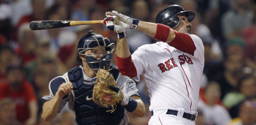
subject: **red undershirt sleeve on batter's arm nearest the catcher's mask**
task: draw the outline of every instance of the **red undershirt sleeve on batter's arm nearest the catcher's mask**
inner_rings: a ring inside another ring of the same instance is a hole
[[[132,62],[132,55],[127,58],[121,58],[116,55],[116,66],[120,73],[127,77],[137,76],[137,70]]]

